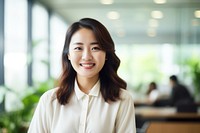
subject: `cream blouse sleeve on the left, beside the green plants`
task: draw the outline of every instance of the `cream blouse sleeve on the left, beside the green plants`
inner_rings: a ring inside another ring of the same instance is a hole
[[[50,95],[46,93],[41,96],[36,110],[34,112],[33,118],[29,125],[28,133],[49,133],[50,128],[50,113],[49,101]]]

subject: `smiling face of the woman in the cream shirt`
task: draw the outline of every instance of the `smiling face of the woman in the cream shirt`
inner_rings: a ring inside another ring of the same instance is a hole
[[[93,31],[81,28],[71,38],[68,59],[78,77],[98,78],[106,53],[99,47]]]

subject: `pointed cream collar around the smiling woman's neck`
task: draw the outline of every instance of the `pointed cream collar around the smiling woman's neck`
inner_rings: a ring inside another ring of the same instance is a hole
[[[87,95],[80,90],[76,79],[75,79],[74,89],[75,89],[75,94],[76,94],[78,100],[80,100],[85,95]],[[100,91],[100,80],[98,80],[97,83],[92,87],[92,89],[90,90],[90,93],[88,95],[89,96],[98,96],[99,91]]]

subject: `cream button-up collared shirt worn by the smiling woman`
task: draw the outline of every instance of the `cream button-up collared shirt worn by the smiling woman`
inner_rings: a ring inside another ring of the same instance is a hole
[[[89,94],[75,82],[66,105],[59,104],[56,90],[41,96],[28,133],[136,133],[134,103],[127,90],[121,89],[121,100],[107,103],[100,93],[100,81]]]

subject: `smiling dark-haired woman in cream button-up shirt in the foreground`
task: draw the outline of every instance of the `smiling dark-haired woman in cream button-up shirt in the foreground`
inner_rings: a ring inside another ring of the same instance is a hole
[[[59,87],[40,98],[29,133],[135,133],[135,112],[107,29],[83,18],[66,34]]]

